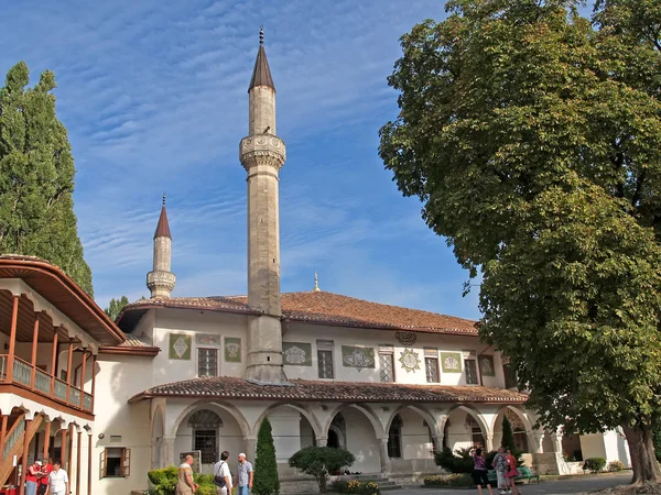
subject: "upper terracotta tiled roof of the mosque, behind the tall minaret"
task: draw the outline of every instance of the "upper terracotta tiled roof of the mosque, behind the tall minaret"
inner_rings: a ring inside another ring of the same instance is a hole
[[[228,297],[173,297],[143,299],[124,308],[123,312],[139,308],[193,308],[229,312],[260,314],[248,306],[246,296]],[[383,330],[414,330],[430,333],[477,336],[476,322],[463,318],[438,315],[420,309],[371,302],[326,292],[285,293],[282,295],[282,316],[293,321],[306,321],[338,327],[372,328]]]

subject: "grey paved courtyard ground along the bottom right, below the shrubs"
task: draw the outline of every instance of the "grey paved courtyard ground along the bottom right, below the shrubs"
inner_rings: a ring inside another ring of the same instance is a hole
[[[597,490],[611,488],[614,486],[627,484],[631,480],[631,473],[607,474],[600,476],[581,476],[570,480],[542,481],[539,485],[517,485],[523,495],[561,495],[561,494],[582,494],[595,492]],[[395,493],[426,494],[426,495],[467,495],[477,493],[477,490],[456,490],[456,488],[422,488],[408,487]],[[488,491],[483,493],[488,494]],[[499,494],[494,490],[494,495]]]

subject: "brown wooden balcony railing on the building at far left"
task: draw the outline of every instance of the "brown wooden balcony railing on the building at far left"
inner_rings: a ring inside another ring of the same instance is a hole
[[[9,356],[7,354],[0,355],[0,384],[9,383],[8,363]],[[32,383],[32,372],[34,372],[34,384]],[[15,356],[13,360],[12,383],[66,406],[93,413],[94,400],[90,394],[84,393],[80,388],[68,385],[66,382]],[[51,387],[53,392],[51,392]],[[83,399],[80,399],[80,396],[83,396]]]

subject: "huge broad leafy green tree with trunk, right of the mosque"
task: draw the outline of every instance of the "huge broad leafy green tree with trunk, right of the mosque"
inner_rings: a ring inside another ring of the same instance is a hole
[[[454,0],[415,25],[380,155],[481,274],[480,334],[549,429],[621,427],[658,482],[661,0]]]

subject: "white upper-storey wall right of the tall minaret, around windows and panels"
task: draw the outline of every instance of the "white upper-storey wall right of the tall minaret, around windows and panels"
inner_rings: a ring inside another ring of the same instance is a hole
[[[305,342],[312,344],[312,366],[284,366],[289,378],[318,380],[317,367],[317,340],[333,340],[333,360],[336,381],[347,382],[380,382],[379,375],[379,344],[391,345],[394,350],[394,380],[397,383],[407,384],[426,384],[424,348],[437,348],[437,358],[443,351],[462,352],[474,350],[480,354],[487,349],[487,345],[478,342],[477,338],[465,336],[442,336],[434,333],[418,333],[418,340],[411,348],[418,353],[420,359],[420,370],[408,372],[402,367],[399,359],[404,351],[395,337],[394,331],[389,330],[364,330],[354,328],[338,328],[315,326],[305,323],[290,323],[286,333],[283,336],[284,342]],[[342,362],[342,346],[366,346],[375,350],[376,363],[373,369],[364,369],[358,371],[355,367],[345,366]],[[495,377],[484,377],[484,385],[489,387],[503,387],[505,377],[502,374],[502,363],[498,353],[492,350],[487,351],[494,355],[494,366],[496,369]],[[462,362],[462,367],[464,363]],[[464,373],[444,373],[441,369],[442,385],[466,385]],[[478,373],[479,375],[479,373]]]

